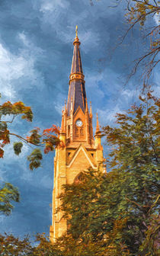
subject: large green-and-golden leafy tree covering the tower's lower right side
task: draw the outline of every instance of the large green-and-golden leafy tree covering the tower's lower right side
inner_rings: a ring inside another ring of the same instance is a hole
[[[104,127],[110,172],[90,170],[60,196],[63,255],[158,255],[159,102],[148,94]],[[74,253],[73,253],[74,248]],[[80,252],[78,252],[80,251]]]

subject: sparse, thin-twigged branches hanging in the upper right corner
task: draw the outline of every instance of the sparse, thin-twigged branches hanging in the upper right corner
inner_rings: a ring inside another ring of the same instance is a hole
[[[123,0],[116,0],[117,4],[112,7],[117,7]],[[123,35],[120,43],[123,42],[126,35],[129,34],[136,24],[139,24],[143,29],[144,37],[142,40],[148,39],[149,47],[146,48],[146,53],[136,60],[136,65],[133,68],[130,76],[134,75],[140,64],[145,66],[142,69],[143,76],[143,89],[146,88],[149,82],[149,78],[153,69],[157,66],[159,59],[158,53],[160,50],[159,24],[155,23],[154,18],[159,18],[159,2],[157,0],[126,0],[126,22],[130,24],[128,30]]]

